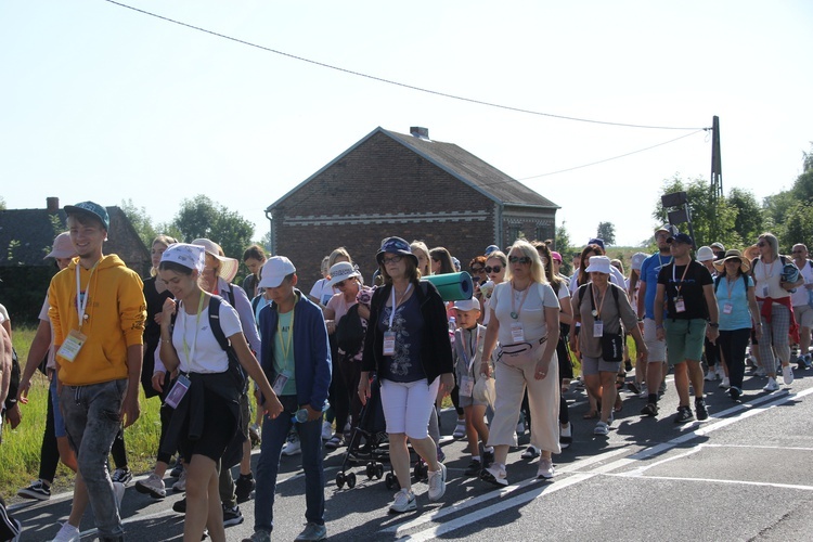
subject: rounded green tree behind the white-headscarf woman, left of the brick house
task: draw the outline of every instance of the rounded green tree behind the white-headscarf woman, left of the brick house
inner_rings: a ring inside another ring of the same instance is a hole
[[[198,237],[210,238],[223,248],[227,256],[237,259],[254,237],[251,222],[236,211],[216,205],[203,194],[184,199],[170,225],[177,230],[179,241],[189,243]]]

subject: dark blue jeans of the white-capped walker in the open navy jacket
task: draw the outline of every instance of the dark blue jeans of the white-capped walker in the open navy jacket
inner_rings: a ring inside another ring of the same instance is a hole
[[[274,494],[276,474],[280,472],[280,456],[285,438],[294,425],[293,415],[298,409],[296,396],[282,396],[284,408],[275,420],[262,418],[262,444],[257,461],[257,489],[254,496],[254,530],[271,532],[274,528]],[[324,525],[324,468],[322,466],[322,416],[296,424],[299,442],[302,447],[302,469],[305,469],[305,518]]]

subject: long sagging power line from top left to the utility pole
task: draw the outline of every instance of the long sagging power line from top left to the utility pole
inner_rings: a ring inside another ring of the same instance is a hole
[[[260,46],[260,44],[257,44],[257,43],[253,43],[250,41],[245,41],[245,40],[242,40],[240,38],[233,38],[231,36],[224,35],[224,34],[219,34],[219,33],[216,33],[214,30],[208,30],[208,29],[202,28],[199,26],[194,26],[194,25],[191,25],[189,23],[183,23],[181,21],[176,21],[173,18],[165,17],[164,15],[158,15],[157,13],[149,12],[149,11],[145,11],[145,10],[142,10],[142,9],[139,9],[139,8],[134,8],[132,5],[128,5],[128,4],[121,3],[121,2],[116,2],[114,0],[105,0],[105,1],[108,2],[108,3],[115,4],[115,5],[119,5],[121,8],[127,8],[128,10],[132,10],[132,11],[136,11],[136,12],[139,12],[139,13],[143,13],[144,15],[150,15],[151,17],[160,18],[162,21],[166,21],[168,23],[172,23],[172,24],[180,25],[180,26],[185,26],[186,28],[191,28],[193,30],[197,30],[197,31],[202,31],[202,33],[205,33],[205,34],[209,34],[209,35],[216,36],[218,38],[228,39],[230,41],[234,41],[236,43],[242,43],[244,46],[254,47],[256,49],[261,49],[261,50],[270,52],[270,53],[279,54],[279,55],[282,55],[282,56],[287,56],[288,59],[293,59],[293,60],[296,60],[296,61],[307,62],[308,64],[313,64],[315,66],[320,66],[320,67],[324,67],[324,68],[328,68],[328,69],[334,69],[336,72],[341,72],[344,74],[354,75],[357,77],[363,77],[365,79],[371,79],[373,81],[384,82],[386,85],[393,85],[396,87],[401,87],[401,88],[405,88],[405,89],[410,89],[410,90],[415,90],[417,92],[424,92],[426,94],[433,94],[433,95],[437,95],[437,96],[441,96],[441,98],[449,98],[451,100],[459,100],[461,102],[467,102],[467,103],[473,103],[473,104],[477,104],[477,105],[485,105],[487,107],[495,107],[495,108],[499,108],[499,109],[513,111],[513,112],[516,112],[516,113],[527,113],[529,115],[537,115],[537,116],[540,116],[540,117],[557,118],[559,120],[573,120],[573,121],[577,121],[577,122],[590,122],[590,124],[595,124],[595,125],[619,126],[619,127],[625,127],[625,128],[645,128],[645,129],[654,129],[654,130],[702,130],[704,129],[704,128],[698,128],[698,127],[685,127],[685,126],[635,125],[635,124],[629,124],[629,122],[612,122],[612,121],[608,121],[608,120],[595,120],[595,119],[590,119],[590,118],[569,117],[569,116],[566,116],[566,115],[555,115],[553,113],[543,113],[543,112],[538,112],[538,111],[524,109],[521,107],[513,107],[511,105],[501,105],[501,104],[496,104],[496,103],[493,103],[493,102],[486,102],[483,100],[476,100],[476,99],[473,99],[473,98],[460,96],[460,95],[456,95],[456,94],[450,94],[450,93],[440,92],[440,91],[437,91],[437,90],[425,89],[423,87],[416,87],[414,85],[409,85],[409,83],[405,83],[405,82],[395,81],[392,79],[385,79],[383,77],[377,77],[377,76],[374,76],[374,75],[363,74],[361,72],[354,72],[352,69],[344,68],[344,67],[340,67],[340,66],[334,66],[333,64],[326,64],[324,62],[319,62],[319,61],[306,59],[304,56],[297,56],[297,55],[292,54],[292,53],[286,53],[285,51],[280,51],[280,50],[276,50],[276,49],[271,49],[269,47],[264,47],[264,46]]]

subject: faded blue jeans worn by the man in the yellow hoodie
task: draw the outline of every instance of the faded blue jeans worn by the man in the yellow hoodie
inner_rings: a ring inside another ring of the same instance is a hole
[[[126,390],[127,378],[122,378],[89,386],[63,386],[60,393],[68,441],[76,451],[102,540],[122,540],[125,533],[107,472],[107,457],[121,427],[119,412]]]

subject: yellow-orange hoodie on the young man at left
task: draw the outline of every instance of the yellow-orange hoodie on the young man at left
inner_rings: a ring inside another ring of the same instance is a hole
[[[48,315],[54,345],[62,345],[73,330],[79,330],[76,305],[76,269],[82,293],[89,292],[81,333],[87,336],[76,359],[57,357],[60,382],[86,386],[127,378],[127,347],[141,345],[146,302],[139,275],[114,255],[104,256],[93,270],[78,266],[78,258],[51,280]]]

